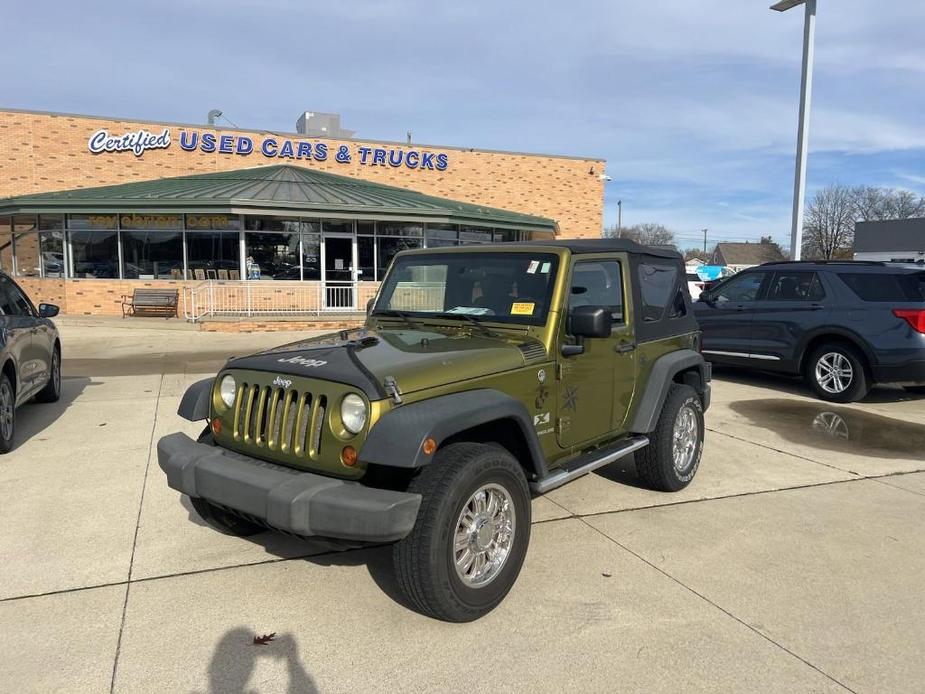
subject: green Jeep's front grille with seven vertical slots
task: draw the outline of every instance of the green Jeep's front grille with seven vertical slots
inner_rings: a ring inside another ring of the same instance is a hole
[[[317,458],[327,405],[324,395],[239,383],[234,400],[234,440],[299,458]]]

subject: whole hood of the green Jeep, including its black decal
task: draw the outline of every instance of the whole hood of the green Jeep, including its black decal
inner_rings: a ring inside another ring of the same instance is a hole
[[[402,393],[487,376],[525,365],[522,336],[489,337],[455,328],[353,330],[293,342],[247,357],[226,368],[294,374],[345,383],[368,398],[386,397],[392,377]],[[533,350],[539,342],[530,342]]]

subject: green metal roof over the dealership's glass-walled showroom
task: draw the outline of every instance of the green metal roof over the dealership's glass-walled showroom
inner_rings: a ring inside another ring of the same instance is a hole
[[[0,215],[278,214],[421,220],[555,233],[555,220],[298,166],[260,166],[0,199]]]

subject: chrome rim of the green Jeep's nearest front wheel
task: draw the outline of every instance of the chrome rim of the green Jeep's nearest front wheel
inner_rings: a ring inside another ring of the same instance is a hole
[[[491,583],[514,544],[514,501],[498,484],[480,487],[463,505],[453,535],[456,575],[470,588]]]

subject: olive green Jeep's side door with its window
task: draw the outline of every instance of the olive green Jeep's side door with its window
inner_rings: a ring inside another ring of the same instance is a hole
[[[605,306],[612,327],[608,337],[587,338],[582,354],[558,357],[556,437],[563,448],[603,437],[621,425],[635,384],[634,335],[627,317],[625,254],[573,260],[568,311],[559,344],[573,344],[568,313],[578,306]]]

